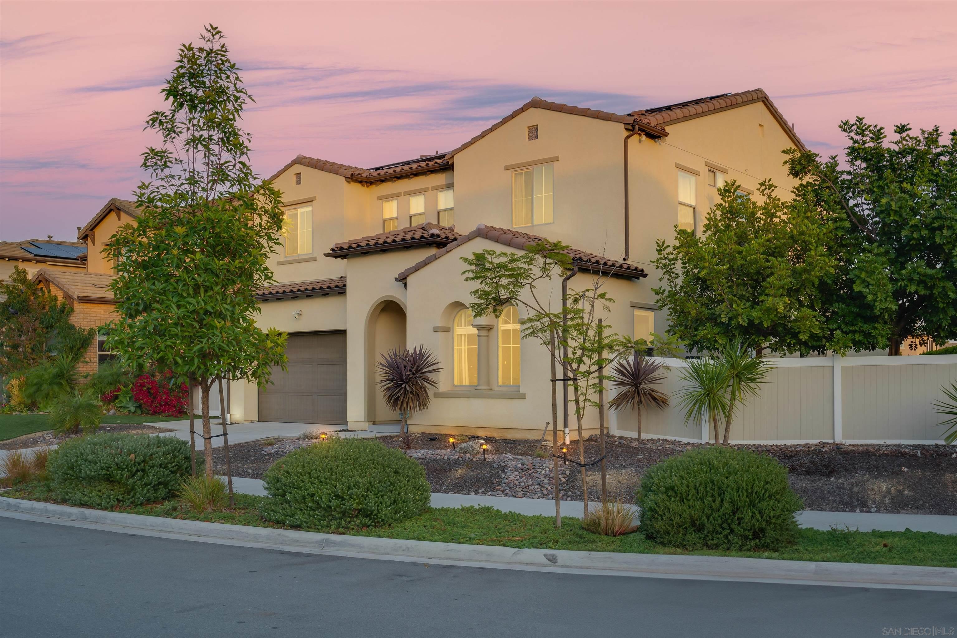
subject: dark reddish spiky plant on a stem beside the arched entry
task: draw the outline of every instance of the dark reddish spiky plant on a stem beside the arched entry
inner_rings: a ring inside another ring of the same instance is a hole
[[[402,415],[402,442],[406,449],[412,447],[409,438],[409,415],[421,412],[429,407],[432,397],[430,389],[437,389],[438,382],[433,375],[442,369],[438,359],[425,346],[416,346],[412,350],[393,348],[382,355],[376,364],[379,369],[379,387],[386,399],[389,410]]]

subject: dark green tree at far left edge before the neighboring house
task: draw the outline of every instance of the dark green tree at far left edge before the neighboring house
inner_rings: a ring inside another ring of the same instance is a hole
[[[70,323],[73,308],[14,265],[0,284],[0,376],[23,372],[56,354],[78,357],[96,330]]]

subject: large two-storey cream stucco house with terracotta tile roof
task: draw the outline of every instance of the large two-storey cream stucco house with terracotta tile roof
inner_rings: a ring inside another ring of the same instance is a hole
[[[701,229],[725,180],[746,195],[766,178],[790,188],[789,147],[804,148],[758,89],[628,114],[534,98],[450,152],[372,169],[298,155],[272,177],[288,225],[271,264],[280,284],[259,297],[260,325],[289,332],[288,372],[264,389],[234,383],[231,412],[394,422],[375,362],[424,345],[443,370],[413,430],[537,436],[551,420],[545,350],[520,339],[517,308],[470,315],[459,258],[563,241],[581,270],[570,287],[611,274],[611,330],[647,337],[666,328],[651,290],[656,240],[676,224]],[[559,283],[542,288],[559,309]]]

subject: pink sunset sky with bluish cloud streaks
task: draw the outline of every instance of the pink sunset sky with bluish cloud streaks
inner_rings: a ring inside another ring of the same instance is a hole
[[[837,123],[957,126],[957,2],[0,2],[0,239],[75,239],[144,174],[180,43],[212,22],[256,104],[253,165],[455,148],[532,96],[627,113],[762,87]]]

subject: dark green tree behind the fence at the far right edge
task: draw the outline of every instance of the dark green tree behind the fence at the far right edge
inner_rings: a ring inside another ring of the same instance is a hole
[[[795,197],[834,228],[847,274],[842,312],[870,318],[866,346],[901,353],[908,337],[946,343],[957,337],[957,130],[942,141],[934,126],[911,132],[863,118],[840,123],[843,160],[790,148]]]

